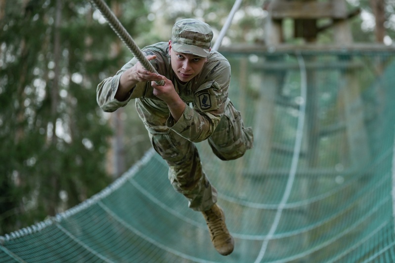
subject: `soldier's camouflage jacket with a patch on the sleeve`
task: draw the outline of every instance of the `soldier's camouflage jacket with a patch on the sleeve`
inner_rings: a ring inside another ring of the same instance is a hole
[[[229,62],[217,51],[212,50],[201,73],[186,84],[181,84],[171,66],[168,42],[147,46],[141,51],[144,55],[157,56],[155,60],[150,61],[151,64],[160,75],[172,80],[176,92],[186,104],[184,113],[176,123],[169,112],[169,118],[166,121],[167,128],[192,142],[207,139],[217,127],[228,103]],[[106,78],[99,83],[96,99],[103,111],[114,112],[118,108],[126,106],[131,99],[149,101],[149,105],[154,107],[157,105],[158,109],[167,107],[165,102],[155,97],[150,82],[137,83],[126,101],[120,102],[114,98],[122,73],[136,63],[137,59],[133,58],[115,76]],[[191,103],[193,108],[189,107]]]

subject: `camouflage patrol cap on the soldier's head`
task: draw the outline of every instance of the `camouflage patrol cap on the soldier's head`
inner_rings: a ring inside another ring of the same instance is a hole
[[[210,52],[213,31],[197,19],[181,19],[173,26],[172,48],[178,53],[207,57]]]

